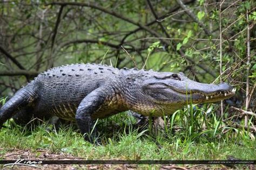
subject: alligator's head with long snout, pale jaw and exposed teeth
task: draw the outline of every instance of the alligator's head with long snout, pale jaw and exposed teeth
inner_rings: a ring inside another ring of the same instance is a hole
[[[146,103],[145,108],[149,108],[149,105],[157,106],[165,111],[166,115],[169,115],[166,112],[171,114],[191,102],[213,103],[235,94],[235,88],[227,83],[199,83],[188,79],[183,73],[151,71],[146,76],[144,75],[143,79],[137,79],[137,81],[140,84],[140,93],[137,95],[144,98],[144,102],[140,102],[140,105]]]

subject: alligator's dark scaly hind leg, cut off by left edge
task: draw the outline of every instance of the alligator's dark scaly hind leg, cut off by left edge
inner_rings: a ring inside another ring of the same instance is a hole
[[[31,84],[28,84],[28,86],[18,90],[17,93],[3,105],[0,110],[0,128],[5,121],[17,114],[19,110],[24,110],[32,104],[36,97],[36,93],[32,89]],[[27,113],[20,112],[19,114],[26,115]]]

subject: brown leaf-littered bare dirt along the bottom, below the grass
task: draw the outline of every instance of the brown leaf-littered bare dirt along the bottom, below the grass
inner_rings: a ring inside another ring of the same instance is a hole
[[[47,150],[37,150],[32,152],[30,150],[17,150],[17,149],[1,149],[1,160],[85,160],[82,157],[73,157],[66,153],[53,153]],[[38,165],[41,168],[15,165],[14,167],[3,167],[0,169],[151,169],[149,165]],[[206,165],[158,165],[156,169],[237,169],[237,167],[227,167],[224,165],[206,166]],[[248,169],[255,169],[254,165],[248,166]]]

